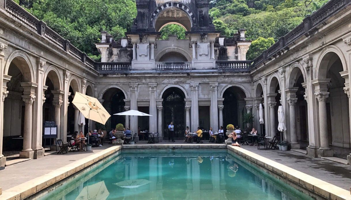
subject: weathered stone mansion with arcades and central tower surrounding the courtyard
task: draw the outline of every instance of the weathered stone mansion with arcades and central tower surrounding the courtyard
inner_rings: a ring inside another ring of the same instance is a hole
[[[21,157],[44,156],[44,121],[54,121],[65,142],[67,131],[79,130],[70,103],[76,91],[98,98],[110,114],[152,115],[112,116],[107,130],[122,123],[167,138],[172,121],[183,138],[186,126],[244,127],[244,113],[252,112],[259,133],[275,136],[282,105],[292,148],[307,144],[313,157],[333,156],[330,145],[350,150],[350,0],[329,1],[253,61],[246,61],[244,29],[232,38],[214,29],[208,0],[136,2],[131,32],[120,40],[102,32],[101,62],[94,62],[12,0],[0,0],[0,166],[18,136]],[[188,39],[160,40],[159,30],[172,23]]]

